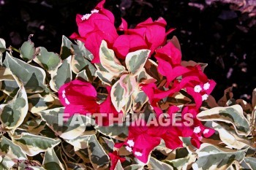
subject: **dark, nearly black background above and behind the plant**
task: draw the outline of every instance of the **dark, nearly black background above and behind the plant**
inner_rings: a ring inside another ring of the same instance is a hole
[[[222,0],[227,1],[227,0]],[[218,100],[232,85],[234,98],[251,100],[256,88],[255,0],[234,4],[202,0],[107,0],[105,8],[135,27],[146,18],[167,20],[176,28],[183,60],[208,63],[206,74],[217,82],[212,93]],[[0,37],[7,47],[20,47],[29,37],[37,47],[59,53],[61,36],[77,31],[75,15],[89,13],[96,0],[0,0]]]

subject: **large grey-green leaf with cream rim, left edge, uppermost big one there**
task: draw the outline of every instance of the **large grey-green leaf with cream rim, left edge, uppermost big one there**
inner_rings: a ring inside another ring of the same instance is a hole
[[[45,90],[45,71],[29,63],[20,61],[7,53],[4,66],[9,68],[15,77],[22,82],[27,93],[41,93]]]

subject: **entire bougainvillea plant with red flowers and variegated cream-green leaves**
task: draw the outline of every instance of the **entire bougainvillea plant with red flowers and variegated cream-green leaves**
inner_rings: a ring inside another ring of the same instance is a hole
[[[216,101],[164,18],[129,28],[99,2],[60,55],[0,39],[0,169],[255,169],[255,106]]]

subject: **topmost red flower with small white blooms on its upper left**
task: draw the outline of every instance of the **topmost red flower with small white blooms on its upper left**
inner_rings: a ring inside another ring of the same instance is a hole
[[[77,15],[78,34],[74,33],[71,39],[79,39],[85,43],[86,48],[94,55],[92,63],[99,63],[99,46],[104,39],[112,46],[118,34],[114,26],[113,14],[104,9],[104,1],[99,2],[91,14]]]

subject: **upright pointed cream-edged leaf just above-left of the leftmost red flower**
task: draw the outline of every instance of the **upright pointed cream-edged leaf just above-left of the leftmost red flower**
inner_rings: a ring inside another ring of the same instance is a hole
[[[67,82],[72,80],[72,71],[71,71],[71,56],[65,59],[62,65],[51,74],[50,88],[54,91],[58,91],[61,85],[64,85]]]

